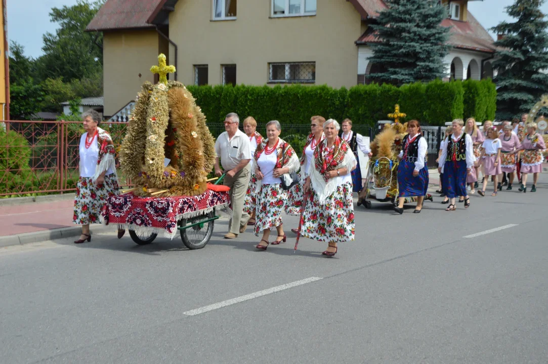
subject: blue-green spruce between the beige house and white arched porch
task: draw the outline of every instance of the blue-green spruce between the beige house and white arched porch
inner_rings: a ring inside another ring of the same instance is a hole
[[[371,44],[369,61],[381,70],[370,77],[396,85],[445,77],[449,28],[440,23],[447,7],[437,0],[388,0],[387,5],[371,25],[380,43]]]

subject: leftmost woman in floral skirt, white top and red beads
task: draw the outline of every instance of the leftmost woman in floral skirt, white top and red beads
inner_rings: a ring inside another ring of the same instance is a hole
[[[100,223],[107,198],[119,194],[115,149],[109,133],[99,128],[101,115],[88,110],[82,114],[82,120],[86,132],[80,138],[80,178],[73,216],[73,222],[82,225],[82,234],[75,244],[92,240],[89,224]],[[123,235],[124,230],[119,229],[118,239]]]

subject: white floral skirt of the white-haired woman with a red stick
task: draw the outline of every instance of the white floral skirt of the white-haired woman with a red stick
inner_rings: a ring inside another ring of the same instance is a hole
[[[352,183],[338,186],[323,205],[311,190],[302,216],[302,236],[317,241],[346,242],[354,240],[354,230]]]

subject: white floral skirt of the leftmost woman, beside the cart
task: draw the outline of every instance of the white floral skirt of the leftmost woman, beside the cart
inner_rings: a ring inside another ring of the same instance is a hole
[[[92,177],[80,177],[76,185],[72,222],[79,225],[101,223],[99,216],[107,198],[119,193],[115,174],[105,176],[105,182],[99,185],[92,181]]]

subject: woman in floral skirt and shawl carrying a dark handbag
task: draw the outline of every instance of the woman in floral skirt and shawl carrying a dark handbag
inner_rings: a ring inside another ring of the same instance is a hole
[[[293,148],[283,141],[279,134],[282,126],[278,120],[266,124],[267,139],[262,141],[254,154],[256,195],[255,236],[262,232],[257,249],[266,250],[269,246],[269,235],[276,228],[278,237],[272,245],[286,241],[283,232],[282,211],[287,200],[287,191],[281,187],[281,176],[299,170],[299,159]]]

